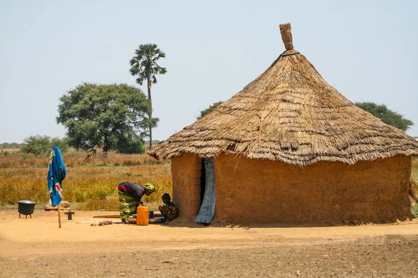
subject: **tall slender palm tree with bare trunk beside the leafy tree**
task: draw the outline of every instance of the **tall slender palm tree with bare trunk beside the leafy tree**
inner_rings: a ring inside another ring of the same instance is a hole
[[[164,58],[165,53],[161,51],[157,44],[141,44],[135,50],[135,55],[130,60],[130,72],[133,76],[138,76],[137,83],[142,85],[144,80],[148,85],[148,99],[150,101],[150,111],[148,113],[149,133],[150,133],[150,148],[153,147],[153,104],[151,101],[151,85],[157,83],[155,75],[165,74],[167,72],[165,67],[160,67],[157,60]]]

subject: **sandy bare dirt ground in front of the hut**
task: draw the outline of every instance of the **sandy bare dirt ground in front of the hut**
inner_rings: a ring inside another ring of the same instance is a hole
[[[91,226],[0,211],[0,277],[418,277],[418,220],[291,227]],[[114,219],[116,222],[120,220]]]

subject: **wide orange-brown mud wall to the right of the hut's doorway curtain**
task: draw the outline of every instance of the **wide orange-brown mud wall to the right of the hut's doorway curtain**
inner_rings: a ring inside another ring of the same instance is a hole
[[[378,222],[411,217],[410,156],[301,168],[222,154],[215,158],[219,222]]]

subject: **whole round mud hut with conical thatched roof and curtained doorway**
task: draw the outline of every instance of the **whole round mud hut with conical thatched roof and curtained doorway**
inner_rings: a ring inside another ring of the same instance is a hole
[[[411,217],[418,142],[358,108],[293,49],[211,113],[155,145],[189,220],[378,222]]]

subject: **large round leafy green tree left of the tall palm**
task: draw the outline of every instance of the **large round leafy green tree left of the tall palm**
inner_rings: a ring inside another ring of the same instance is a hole
[[[126,84],[83,83],[60,99],[56,122],[67,129],[71,147],[104,153],[116,149],[124,138],[144,138],[146,128],[158,119],[148,119],[150,104],[138,88]]]

